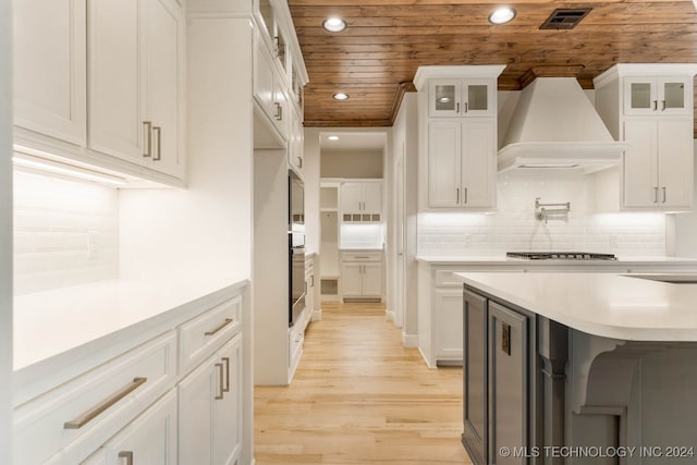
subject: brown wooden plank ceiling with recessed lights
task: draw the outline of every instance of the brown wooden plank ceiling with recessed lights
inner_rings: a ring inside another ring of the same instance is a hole
[[[289,0],[309,74],[306,126],[390,126],[419,65],[506,64],[499,89],[535,68],[566,66],[585,88],[614,63],[697,62],[692,0],[513,0],[511,23],[490,25],[494,0]],[[559,8],[592,8],[571,30],[540,30]],[[338,34],[322,29],[345,19]],[[344,91],[346,101],[332,95]]]

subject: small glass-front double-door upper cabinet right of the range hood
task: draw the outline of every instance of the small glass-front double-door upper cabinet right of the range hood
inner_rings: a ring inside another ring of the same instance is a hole
[[[693,79],[688,77],[626,77],[625,114],[690,114]]]

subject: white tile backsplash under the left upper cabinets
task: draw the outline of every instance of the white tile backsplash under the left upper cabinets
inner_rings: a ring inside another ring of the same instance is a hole
[[[118,191],[15,170],[15,295],[118,274]]]

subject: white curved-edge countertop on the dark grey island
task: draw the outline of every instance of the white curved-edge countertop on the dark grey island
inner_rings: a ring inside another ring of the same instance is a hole
[[[589,334],[629,341],[697,341],[697,284],[580,272],[455,276],[501,301]]]

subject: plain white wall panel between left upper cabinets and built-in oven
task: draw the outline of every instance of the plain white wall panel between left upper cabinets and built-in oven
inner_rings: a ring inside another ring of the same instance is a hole
[[[249,21],[189,21],[187,46],[188,187],[122,193],[124,279],[252,277]]]

